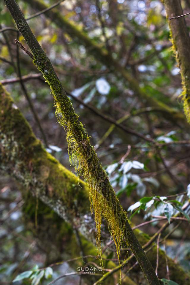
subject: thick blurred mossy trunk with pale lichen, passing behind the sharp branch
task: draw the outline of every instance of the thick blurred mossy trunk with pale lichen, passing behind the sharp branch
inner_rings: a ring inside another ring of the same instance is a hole
[[[34,136],[26,119],[1,84],[0,142],[0,170],[14,177],[25,189],[26,196],[27,192],[33,193],[39,200],[53,209],[61,219],[69,222],[72,227],[77,227],[81,236],[83,235],[88,239],[88,244],[90,241],[94,243],[95,237],[89,233],[89,229],[94,227],[94,223],[92,219],[90,220],[87,185],[79,181],[79,186],[78,178],[45,151],[40,141]],[[49,212],[48,207],[44,206],[41,209],[39,206],[38,224],[44,219],[43,209],[45,209],[44,213]],[[29,211],[26,213],[27,217],[34,219],[35,207],[31,206],[27,209]],[[85,222],[86,215],[89,223]],[[56,229],[60,229],[60,234],[62,229],[65,229],[64,224],[61,226],[60,219],[57,222],[55,219],[53,224],[56,224]],[[131,226],[133,227],[132,224]],[[134,232],[141,245],[150,240],[150,237],[139,229],[134,230]],[[43,233],[41,232],[41,234]],[[51,236],[49,239],[51,240]],[[62,244],[60,236],[57,242]],[[87,243],[85,246],[88,246]],[[89,254],[89,252],[87,253]],[[94,255],[92,252],[90,254]],[[153,267],[156,267],[156,245],[149,251],[148,258]],[[165,278],[167,275],[165,256],[161,250],[159,251],[159,260],[158,275],[160,278]],[[171,280],[180,285],[189,285],[189,275],[172,259],[168,258],[168,260]]]

